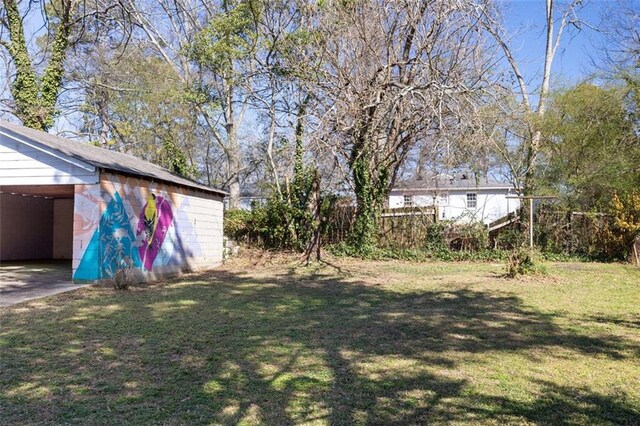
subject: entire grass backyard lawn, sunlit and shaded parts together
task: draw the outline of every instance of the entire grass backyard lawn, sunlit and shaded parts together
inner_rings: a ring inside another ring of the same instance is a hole
[[[235,259],[0,310],[0,423],[640,424],[640,269]]]

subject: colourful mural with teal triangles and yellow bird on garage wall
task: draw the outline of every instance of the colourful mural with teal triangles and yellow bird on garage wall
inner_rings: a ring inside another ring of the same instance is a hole
[[[92,236],[75,269],[75,280],[111,278],[126,266],[143,272],[158,267],[182,269],[188,259],[201,256],[197,239],[183,241],[183,235],[196,233],[195,220],[189,217],[189,197],[180,189],[111,176],[99,192],[98,198],[95,188],[84,186],[76,194],[80,208],[76,207],[75,221],[85,235],[90,230]],[[100,202],[106,206],[96,220],[93,206]]]

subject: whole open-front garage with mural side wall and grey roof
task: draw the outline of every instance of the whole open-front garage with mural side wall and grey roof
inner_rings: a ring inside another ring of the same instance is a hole
[[[222,262],[225,192],[139,158],[0,120],[0,261],[70,262],[74,281]]]

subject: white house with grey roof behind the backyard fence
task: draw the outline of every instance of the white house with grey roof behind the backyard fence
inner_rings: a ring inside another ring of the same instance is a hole
[[[389,208],[437,206],[441,220],[489,224],[520,207],[516,188],[472,174],[436,175],[399,182],[389,193]]]

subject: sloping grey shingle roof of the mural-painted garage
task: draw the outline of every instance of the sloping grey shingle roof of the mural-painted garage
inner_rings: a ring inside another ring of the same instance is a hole
[[[44,147],[53,149],[65,156],[76,160],[84,161],[94,167],[111,170],[115,172],[135,175],[145,178],[153,178],[160,181],[186,186],[189,188],[199,189],[201,191],[211,192],[225,196],[226,192],[202,185],[191,179],[186,179],[169,170],[160,167],[149,161],[142,160],[132,155],[99,148],[88,143],[78,142],[60,136],[51,135],[39,130],[30,129],[28,127],[19,126],[0,120],[0,132],[7,134],[14,139],[22,142],[28,139],[29,142],[40,144]]]

